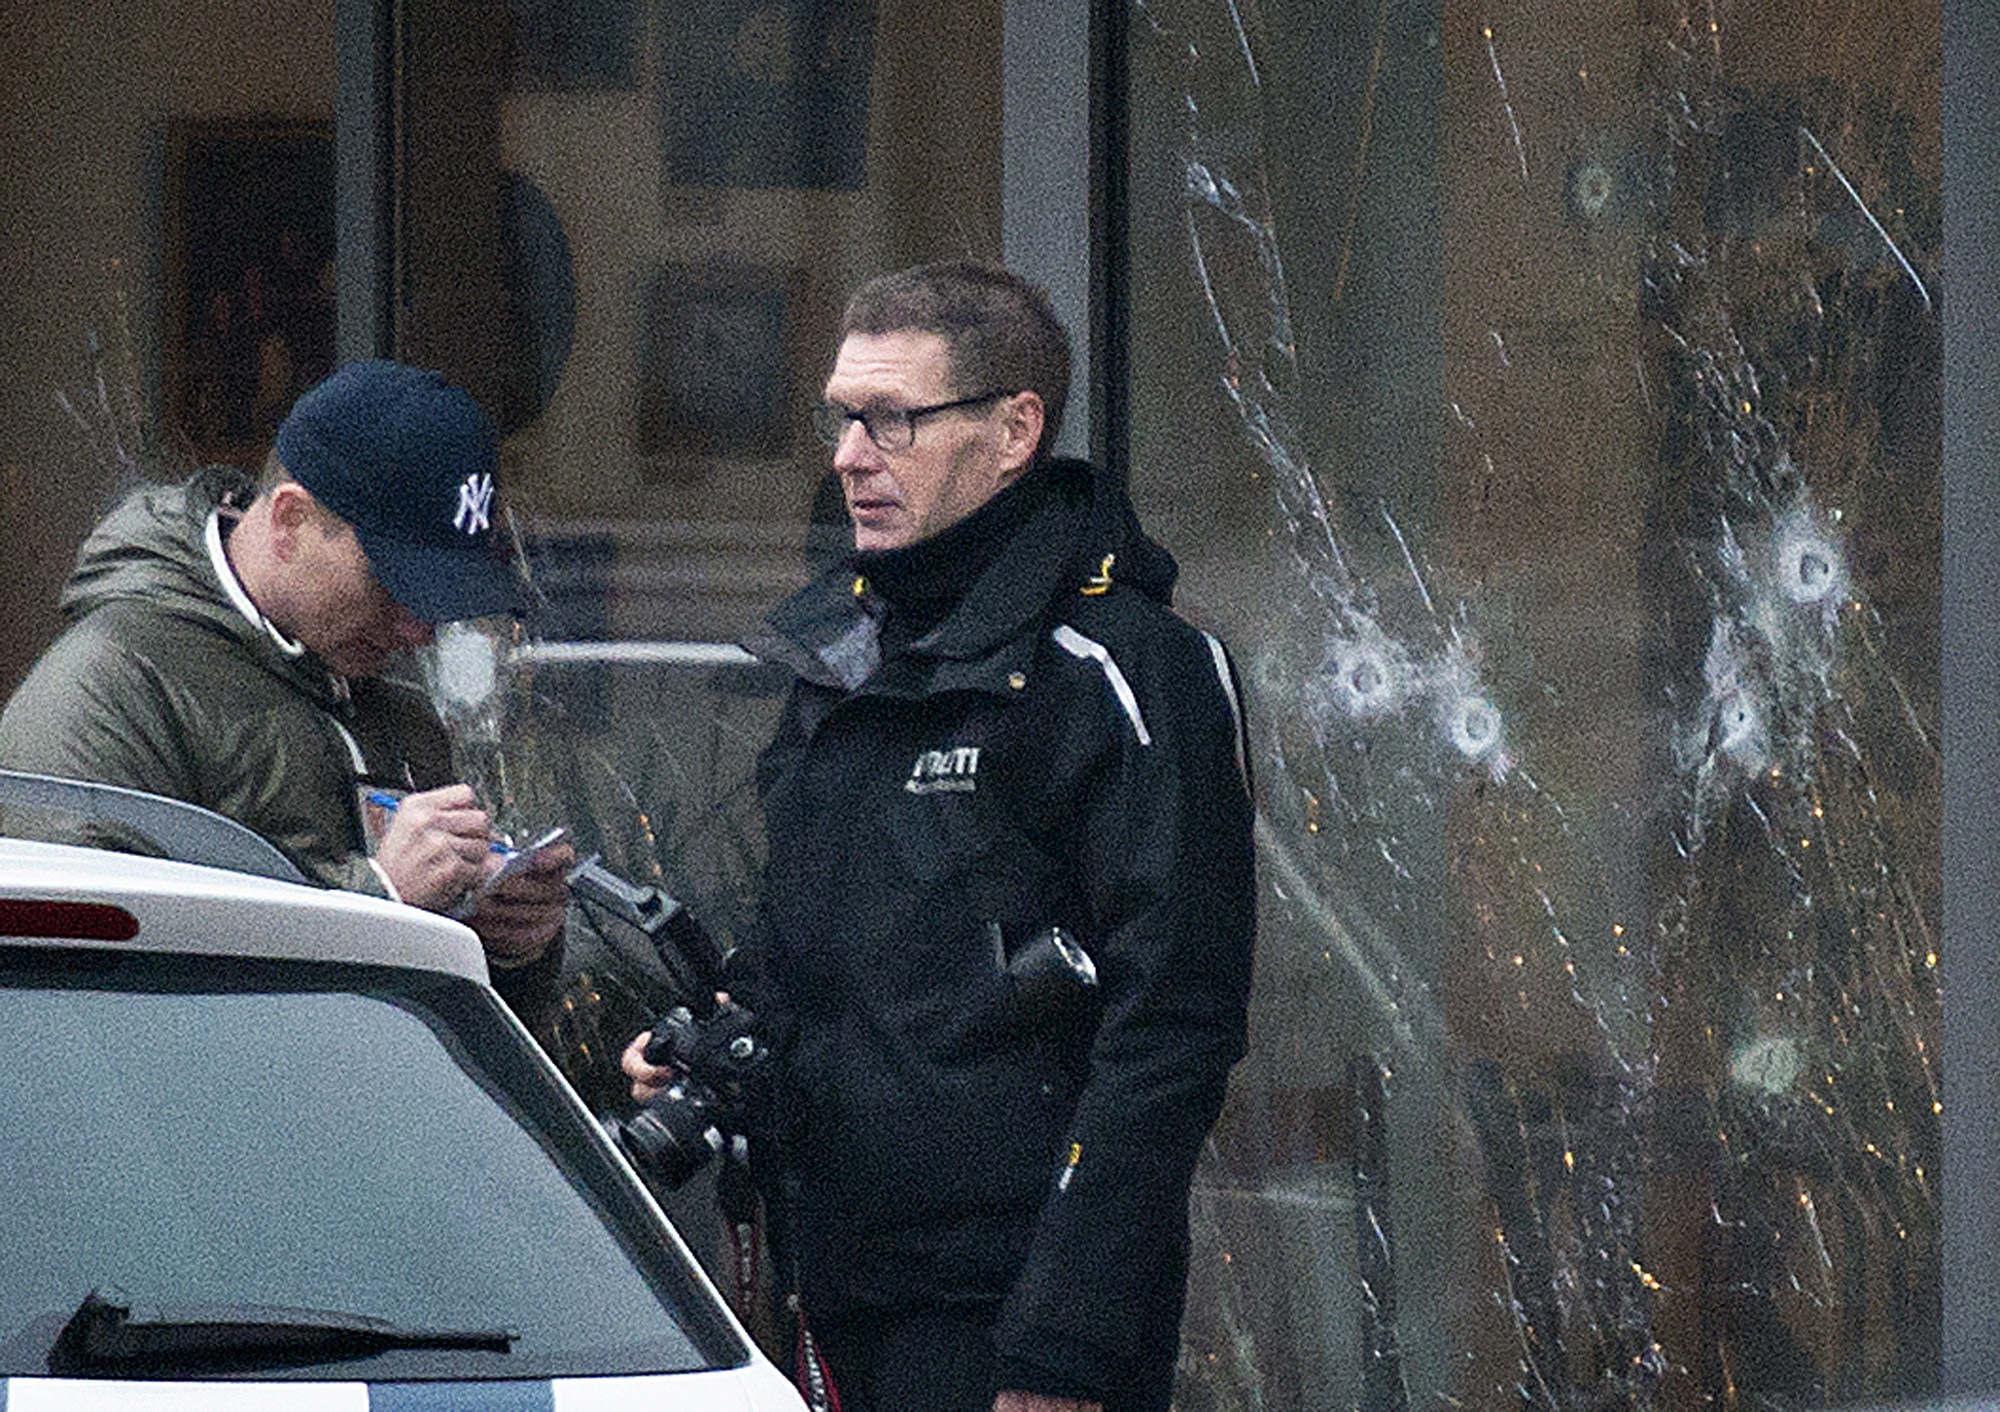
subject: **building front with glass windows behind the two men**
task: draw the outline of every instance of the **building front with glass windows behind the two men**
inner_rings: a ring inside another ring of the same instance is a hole
[[[480,768],[726,930],[772,696],[714,644],[838,540],[844,290],[1006,258],[1080,340],[1066,448],[1248,676],[1180,1404],[1992,1394],[1996,30],[28,0],[0,678],[120,486],[254,462],[334,362],[448,368],[540,590]],[[576,994],[588,1088],[644,996]]]

